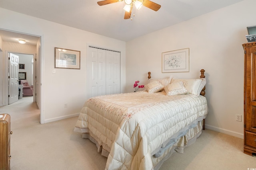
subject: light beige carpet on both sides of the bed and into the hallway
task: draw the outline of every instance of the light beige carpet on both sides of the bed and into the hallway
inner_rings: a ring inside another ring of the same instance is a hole
[[[40,111],[25,97],[0,113],[11,115],[11,170],[104,170],[107,158],[74,132],[78,117],[39,124]],[[243,139],[205,130],[196,143],[174,154],[160,170],[256,169],[256,157],[243,153]]]

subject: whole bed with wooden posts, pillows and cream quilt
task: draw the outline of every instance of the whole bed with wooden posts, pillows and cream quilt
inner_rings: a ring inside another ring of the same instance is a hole
[[[158,170],[204,129],[208,107],[200,72],[195,79],[154,79],[148,72],[143,91],[90,98],[74,131],[108,157],[106,170]]]

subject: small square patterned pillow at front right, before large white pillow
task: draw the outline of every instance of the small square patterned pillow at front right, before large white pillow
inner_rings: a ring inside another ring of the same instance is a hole
[[[164,88],[164,91],[166,92],[166,96],[188,94],[188,90],[183,86],[183,82],[174,82],[168,84]]]

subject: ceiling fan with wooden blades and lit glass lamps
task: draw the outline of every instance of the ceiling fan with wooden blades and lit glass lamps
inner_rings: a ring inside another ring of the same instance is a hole
[[[115,2],[125,2],[124,10],[124,19],[131,18],[132,14],[132,7],[135,6],[137,10],[139,10],[142,6],[146,6],[147,8],[150,8],[151,10],[158,11],[161,8],[161,5],[156,4],[155,2],[152,2],[150,0],[102,0],[97,2],[99,6],[112,4]]]

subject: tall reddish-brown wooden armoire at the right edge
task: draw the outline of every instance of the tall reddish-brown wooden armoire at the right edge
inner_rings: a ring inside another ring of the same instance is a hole
[[[256,155],[256,42],[244,48],[244,153]]]

